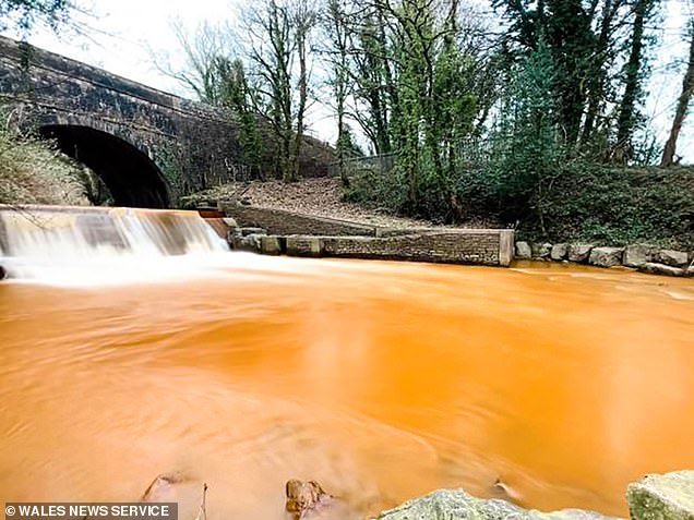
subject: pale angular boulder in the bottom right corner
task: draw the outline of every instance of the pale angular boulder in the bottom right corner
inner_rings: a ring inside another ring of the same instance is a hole
[[[694,471],[647,475],[629,485],[626,501],[634,520],[694,520]]]

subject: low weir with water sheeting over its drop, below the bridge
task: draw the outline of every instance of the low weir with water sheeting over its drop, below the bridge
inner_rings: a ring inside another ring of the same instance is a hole
[[[41,278],[47,269],[143,270],[165,257],[228,252],[196,211],[23,206],[0,207],[0,265],[9,277]],[[137,262],[141,262],[137,265]]]

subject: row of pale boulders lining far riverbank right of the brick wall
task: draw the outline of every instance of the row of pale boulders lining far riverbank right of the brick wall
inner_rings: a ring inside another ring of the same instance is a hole
[[[573,262],[596,267],[623,266],[650,275],[694,277],[694,251],[659,249],[648,244],[602,247],[591,244],[516,242],[516,259]]]

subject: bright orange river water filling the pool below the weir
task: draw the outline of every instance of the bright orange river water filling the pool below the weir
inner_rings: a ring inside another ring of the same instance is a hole
[[[313,479],[373,515],[440,487],[626,516],[694,468],[694,280],[267,258],[181,280],[0,285],[0,500],[283,518]],[[187,517],[187,515],[193,515]]]

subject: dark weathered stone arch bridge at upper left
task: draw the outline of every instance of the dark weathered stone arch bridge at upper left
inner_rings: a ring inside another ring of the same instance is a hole
[[[96,172],[119,206],[169,207],[242,169],[234,113],[4,37],[0,105]],[[307,137],[303,148],[302,171],[326,174],[330,147]]]

